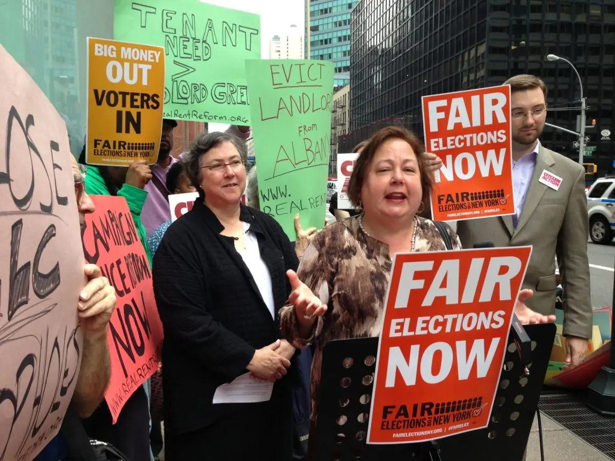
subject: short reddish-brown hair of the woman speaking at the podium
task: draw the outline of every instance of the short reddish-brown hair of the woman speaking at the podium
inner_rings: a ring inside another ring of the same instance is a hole
[[[385,141],[399,139],[406,141],[415,152],[416,160],[418,161],[419,171],[421,172],[421,187],[423,188],[423,197],[421,203],[429,203],[429,196],[434,185],[429,167],[427,167],[427,159],[425,156],[425,147],[421,140],[412,132],[401,127],[386,127],[382,128],[375,135],[371,136],[367,141],[361,155],[357,157],[357,161],[352,167],[352,175],[348,184],[348,198],[355,207],[359,206],[361,188],[365,176],[371,167],[376,151],[384,144]]]

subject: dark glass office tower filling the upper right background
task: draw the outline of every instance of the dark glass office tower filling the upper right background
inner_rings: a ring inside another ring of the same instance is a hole
[[[352,148],[379,127],[401,124],[423,136],[421,97],[501,85],[515,74],[549,87],[547,122],[578,131],[587,98],[590,148],[585,162],[614,171],[615,0],[362,0],[352,12]],[[574,135],[546,127],[541,141],[578,158]],[[595,146],[595,147],[592,147]],[[595,149],[592,151],[592,149]]]

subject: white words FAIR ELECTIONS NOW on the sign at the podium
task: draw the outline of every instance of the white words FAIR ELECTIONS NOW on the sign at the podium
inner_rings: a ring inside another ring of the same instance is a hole
[[[416,318],[396,318],[391,321],[389,337],[414,336],[424,334],[446,334],[460,331],[474,331],[480,329],[499,329],[507,326],[506,312],[487,310],[483,312],[479,304],[491,303],[494,298],[499,301],[510,301],[516,291],[513,290],[513,279],[518,277],[523,270],[522,261],[515,256],[503,256],[493,258],[472,258],[469,267],[460,267],[459,259],[445,259],[435,272],[435,276],[427,293],[416,295],[413,299],[413,291],[424,291],[424,278],[419,272],[432,271],[435,269],[433,261],[405,262],[399,282],[399,291],[395,297],[395,309],[407,309],[409,305],[415,305],[420,298],[421,307],[431,307],[438,297],[443,297],[446,304],[474,304],[476,312],[454,313],[448,315],[420,316]],[[481,274],[485,270],[481,280]],[[477,299],[478,295],[478,299]],[[488,352],[485,354],[485,340],[474,339],[467,352],[467,341],[455,342],[455,350],[448,342],[434,342],[421,353],[418,344],[410,347],[409,360],[400,347],[392,347],[389,351],[387,366],[386,387],[394,387],[395,377],[399,371],[406,385],[416,384],[417,374],[424,382],[436,384],[444,380],[457,363],[459,380],[466,380],[470,375],[474,363],[477,365],[477,377],[484,377],[488,372],[491,361],[494,358],[500,338],[491,339]],[[435,353],[441,354],[442,362],[440,369],[434,374],[431,364]],[[421,357],[422,356],[422,357]],[[429,366],[419,366],[421,363]]]

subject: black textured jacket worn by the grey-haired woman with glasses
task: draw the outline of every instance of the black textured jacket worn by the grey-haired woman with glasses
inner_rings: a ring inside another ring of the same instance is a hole
[[[213,405],[216,388],[247,372],[255,350],[280,338],[278,311],[290,295],[286,271],[297,269],[298,258],[271,216],[241,205],[240,219],[250,223],[271,273],[275,320],[232,237],[220,235],[224,227],[202,202],[169,227],[154,256],[165,423],[177,433],[241,411],[242,404]],[[291,395],[291,375],[276,383],[272,401]]]

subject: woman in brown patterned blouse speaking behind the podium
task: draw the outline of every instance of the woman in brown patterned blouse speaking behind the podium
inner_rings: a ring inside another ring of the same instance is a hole
[[[362,213],[316,235],[298,272],[307,294],[293,291],[289,305],[280,312],[282,335],[295,347],[303,349],[318,339],[311,377],[310,446],[314,446],[322,349],[335,339],[379,335],[393,254],[443,251],[444,238],[454,249],[461,248],[450,227],[446,235],[440,234],[432,221],[418,216],[433,181],[423,152],[421,141],[403,128],[383,128],[372,136],[357,159],[348,191]],[[319,293],[319,299],[310,293]],[[555,320],[523,304],[531,294],[531,290],[519,294],[517,316],[525,323]]]

